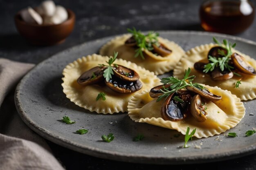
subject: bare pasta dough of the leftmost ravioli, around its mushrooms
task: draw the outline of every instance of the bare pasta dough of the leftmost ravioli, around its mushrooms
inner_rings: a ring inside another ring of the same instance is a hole
[[[64,77],[62,78],[63,83],[61,85],[63,86],[63,92],[71,102],[90,111],[96,111],[97,113],[113,114],[126,112],[128,101],[133,95],[160,84],[160,79],[157,78],[153,72],[149,72],[145,68],[137,66],[135,63],[127,62],[122,59],[115,60],[115,64],[132,68],[139,74],[139,80],[143,85],[139,91],[130,94],[122,94],[112,91],[108,86],[81,86],[77,83],[76,80],[83,72],[88,71],[95,66],[99,66],[99,64],[105,64],[108,60],[109,57],[93,54],[79,58],[64,68]],[[106,94],[106,100],[99,99],[96,101],[100,92]]]

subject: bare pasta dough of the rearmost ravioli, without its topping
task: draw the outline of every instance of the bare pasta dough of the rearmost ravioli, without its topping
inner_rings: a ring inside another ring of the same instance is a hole
[[[158,37],[158,41],[172,51],[170,55],[162,57],[155,55],[148,50],[144,50],[144,53],[150,55],[150,57],[145,56],[145,59],[142,59],[140,56],[134,57],[136,48],[125,45],[125,41],[130,37],[130,34],[125,34],[114,38],[101,47],[99,52],[100,55],[110,56],[115,51],[118,52],[119,58],[134,62],[138,66],[144,67],[149,71],[153,71],[156,75],[160,75],[173,70],[177,62],[179,62],[180,58],[185,53],[179,45],[175,44],[175,42]]]

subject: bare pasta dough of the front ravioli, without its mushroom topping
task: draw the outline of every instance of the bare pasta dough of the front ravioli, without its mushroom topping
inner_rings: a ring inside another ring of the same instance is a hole
[[[221,95],[222,99],[217,102],[207,102],[207,120],[198,122],[188,115],[181,121],[167,121],[161,117],[162,101],[156,102],[149,96],[148,91],[143,91],[132,97],[128,103],[128,115],[135,122],[144,122],[163,128],[175,129],[186,134],[187,127],[191,131],[196,128],[193,136],[197,138],[218,135],[230,128],[235,127],[245,115],[243,102],[227,90],[218,87],[205,86],[213,94]]]

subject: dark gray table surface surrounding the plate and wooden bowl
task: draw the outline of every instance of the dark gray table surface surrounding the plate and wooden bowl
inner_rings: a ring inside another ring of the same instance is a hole
[[[194,30],[203,31],[198,9],[202,0],[55,0],[56,4],[70,8],[76,14],[76,24],[65,43],[57,46],[31,46],[20,37],[13,16],[22,8],[35,7],[40,0],[0,0],[0,57],[38,64],[53,54],[71,46],[126,33],[135,26],[144,30]],[[256,4],[256,0],[253,0]],[[256,41],[256,22],[245,32],[236,36]],[[14,89],[13,89],[14,90]],[[16,112],[13,93],[0,108],[2,112]],[[84,155],[47,141],[54,155],[67,170],[111,169],[172,169],[172,170],[255,170],[256,154],[246,157],[194,165],[144,165],[110,161]]]

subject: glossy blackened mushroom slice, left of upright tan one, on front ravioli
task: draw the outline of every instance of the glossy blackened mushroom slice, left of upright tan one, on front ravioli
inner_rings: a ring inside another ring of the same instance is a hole
[[[161,108],[161,116],[164,120],[180,121],[186,117],[179,102],[173,100],[174,93],[164,101]]]

